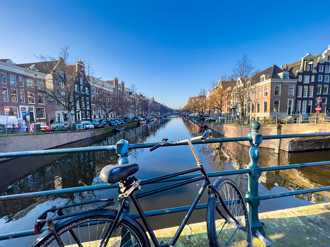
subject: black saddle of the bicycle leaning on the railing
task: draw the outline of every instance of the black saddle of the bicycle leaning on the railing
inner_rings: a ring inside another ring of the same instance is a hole
[[[138,171],[138,164],[108,164],[103,167],[100,178],[107,184],[115,184]]]

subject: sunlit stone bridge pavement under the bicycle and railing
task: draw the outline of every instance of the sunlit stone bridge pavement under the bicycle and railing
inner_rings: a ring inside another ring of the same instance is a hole
[[[330,203],[259,213],[259,219],[265,232],[254,235],[253,246],[330,246]],[[177,228],[156,230],[156,236],[169,242]],[[206,222],[185,226],[176,246],[209,246]]]

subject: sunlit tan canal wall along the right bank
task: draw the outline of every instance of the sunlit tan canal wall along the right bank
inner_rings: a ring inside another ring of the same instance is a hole
[[[209,129],[212,129],[227,138],[234,138],[240,136],[247,136],[251,133],[249,126],[238,125],[222,125],[217,122],[205,122],[205,125]],[[261,125],[259,133],[262,136],[273,135],[287,135],[298,133],[320,133],[330,132],[329,124],[291,124],[291,125]],[[249,142],[240,142],[249,146]],[[262,144],[259,147],[266,147],[269,149],[275,149],[287,152],[297,151],[313,151],[330,149],[330,137],[315,137],[315,138],[285,138],[274,140],[262,140]]]

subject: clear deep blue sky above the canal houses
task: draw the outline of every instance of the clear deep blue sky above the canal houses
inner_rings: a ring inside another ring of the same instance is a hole
[[[259,69],[299,61],[330,45],[323,1],[8,1],[0,0],[0,58],[57,56],[90,61],[94,76],[168,107],[209,89],[243,54]]]

